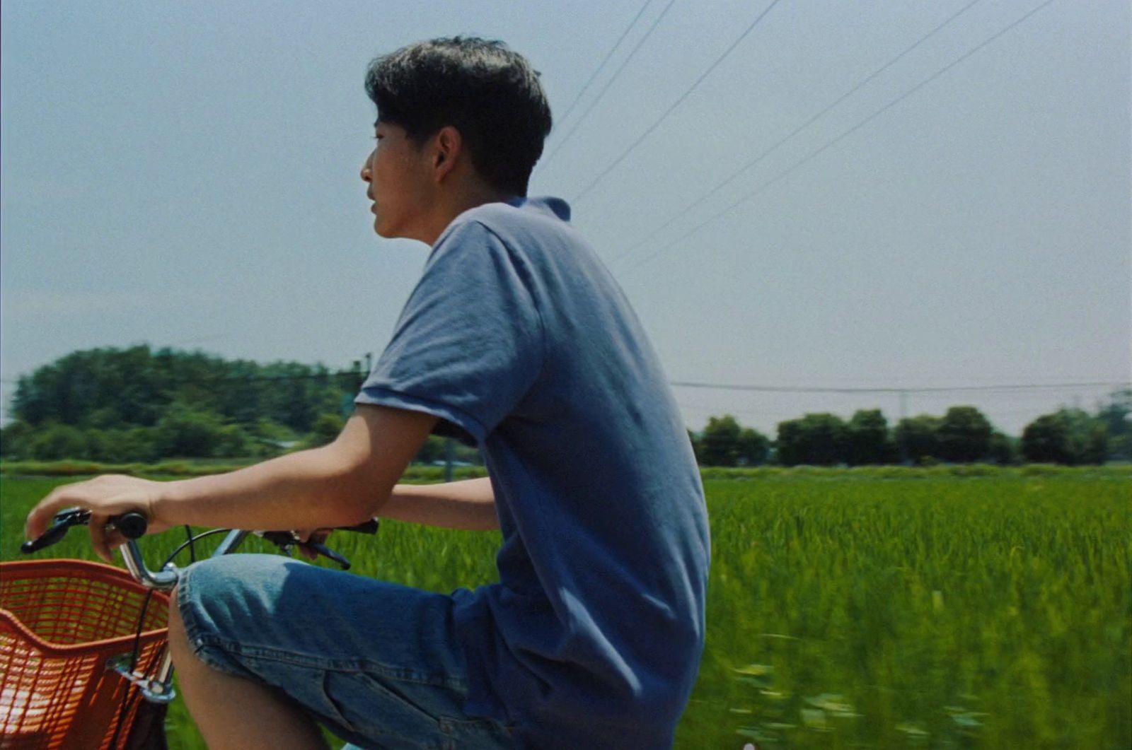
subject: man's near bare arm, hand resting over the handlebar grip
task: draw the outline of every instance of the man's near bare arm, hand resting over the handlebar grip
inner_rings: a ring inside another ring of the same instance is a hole
[[[62,508],[86,508],[94,549],[109,560],[123,538],[103,527],[108,517],[129,510],[145,512],[153,532],[179,524],[248,529],[350,526],[379,512],[436,419],[359,405],[331,445],[228,474],[177,482],[111,475],[68,484],[32,510],[25,534],[42,534]]]

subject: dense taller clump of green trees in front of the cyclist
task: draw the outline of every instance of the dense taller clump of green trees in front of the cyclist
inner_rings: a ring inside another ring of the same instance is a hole
[[[266,458],[325,445],[342,430],[360,369],[259,364],[147,345],[72,352],[20,377],[0,456],[153,462]],[[444,458],[429,438],[418,460]],[[456,449],[473,462],[474,449]]]

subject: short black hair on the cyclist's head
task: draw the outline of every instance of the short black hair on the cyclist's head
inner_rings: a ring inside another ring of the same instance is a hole
[[[484,182],[526,195],[550,132],[550,105],[539,71],[503,42],[455,36],[410,44],[369,63],[366,93],[378,121],[404,128],[418,146],[454,127]]]

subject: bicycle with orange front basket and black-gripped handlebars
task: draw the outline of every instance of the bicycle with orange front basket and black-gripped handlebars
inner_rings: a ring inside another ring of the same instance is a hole
[[[31,553],[59,542],[89,511],[71,508],[25,542]],[[146,567],[137,540],[146,519],[111,518],[127,537],[127,570],[84,560],[0,562],[0,749],[149,750],[166,747],[164,717],[175,698],[168,649],[169,596],[178,581],[173,560],[196,542],[226,534],[211,557],[231,554],[251,534],[291,555],[298,546],[350,561],[325,544],[292,532],[215,528],[191,534],[156,570]],[[376,534],[377,519],[341,531]],[[127,572],[128,571],[128,572]]]

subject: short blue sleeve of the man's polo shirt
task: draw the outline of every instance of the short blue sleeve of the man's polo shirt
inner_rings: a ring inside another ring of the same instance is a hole
[[[427,412],[482,442],[542,367],[542,325],[528,283],[526,267],[487,226],[454,226],[355,403]]]

